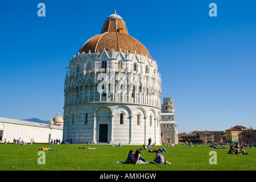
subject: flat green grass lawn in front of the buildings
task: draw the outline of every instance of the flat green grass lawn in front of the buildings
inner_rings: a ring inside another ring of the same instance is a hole
[[[50,147],[59,151],[45,151],[46,164],[38,164],[39,148]],[[81,149],[91,147],[95,150]],[[154,146],[166,148],[165,160],[171,165],[163,164],[119,164],[125,161],[129,150],[142,146],[111,147],[98,144],[0,144],[1,171],[255,171],[256,148],[245,148],[250,155],[227,154],[225,149],[213,149],[207,146]],[[217,152],[217,164],[209,164],[210,151]],[[155,153],[141,150],[147,162],[154,160]]]

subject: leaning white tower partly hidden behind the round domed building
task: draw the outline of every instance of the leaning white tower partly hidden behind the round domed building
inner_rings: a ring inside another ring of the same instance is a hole
[[[175,106],[173,98],[163,98],[161,108],[161,141],[178,143],[178,125],[174,120]]]

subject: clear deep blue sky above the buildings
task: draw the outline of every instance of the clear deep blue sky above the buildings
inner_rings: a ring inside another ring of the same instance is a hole
[[[217,17],[209,4],[217,4]],[[38,3],[46,16],[39,17]],[[71,56],[114,9],[157,61],[178,132],[254,127],[255,1],[1,1],[0,117],[63,115]]]

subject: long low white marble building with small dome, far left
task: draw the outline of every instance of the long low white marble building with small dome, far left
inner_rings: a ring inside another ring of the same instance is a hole
[[[18,119],[0,118],[0,140],[13,142],[13,139],[23,140],[30,143],[34,139],[35,143],[48,143],[50,139],[62,140],[63,119],[58,114],[58,122],[50,120],[49,125],[44,123],[23,121]]]

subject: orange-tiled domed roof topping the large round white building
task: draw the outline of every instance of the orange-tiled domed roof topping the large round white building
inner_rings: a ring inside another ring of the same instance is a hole
[[[125,21],[115,12],[105,20],[101,34],[88,40],[79,50],[78,54],[88,53],[89,51],[102,52],[104,49],[106,51],[147,55],[151,59],[146,47],[128,34]]]

